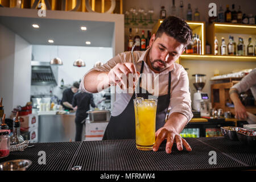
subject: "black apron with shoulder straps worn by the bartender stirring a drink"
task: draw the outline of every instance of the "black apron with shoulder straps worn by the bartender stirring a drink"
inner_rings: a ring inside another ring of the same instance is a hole
[[[144,61],[142,61],[141,74],[143,72]],[[141,77],[139,78],[139,83],[141,83]],[[138,97],[143,97],[148,99],[148,96],[152,96],[145,90],[142,93],[142,88],[139,86]],[[164,126],[166,120],[167,110],[170,104],[171,97],[171,72],[169,72],[168,81],[168,94],[158,97],[158,105],[156,109],[156,131],[160,127]],[[108,126],[106,127],[104,137],[102,140],[114,140],[114,139],[135,139],[135,113],[134,113],[134,103],[135,93],[129,104],[126,106],[125,110],[117,116],[111,116]]]

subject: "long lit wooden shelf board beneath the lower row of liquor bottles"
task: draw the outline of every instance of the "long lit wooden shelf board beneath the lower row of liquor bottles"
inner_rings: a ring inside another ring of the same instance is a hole
[[[181,60],[206,60],[206,61],[256,61],[256,56],[220,56],[220,55],[188,55],[180,56]]]

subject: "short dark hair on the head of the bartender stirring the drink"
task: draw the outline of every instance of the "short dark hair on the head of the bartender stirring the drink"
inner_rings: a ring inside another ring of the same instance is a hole
[[[183,19],[176,16],[168,16],[163,20],[162,24],[158,28],[158,31],[156,32],[156,38],[162,36],[163,32],[169,36],[172,36],[185,46],[187,46],[192,39],[191,28]]]

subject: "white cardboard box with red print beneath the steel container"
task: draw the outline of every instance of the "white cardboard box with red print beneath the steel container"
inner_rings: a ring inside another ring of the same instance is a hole
[[[102,140],[108,122],[85,123],[85,141]]]

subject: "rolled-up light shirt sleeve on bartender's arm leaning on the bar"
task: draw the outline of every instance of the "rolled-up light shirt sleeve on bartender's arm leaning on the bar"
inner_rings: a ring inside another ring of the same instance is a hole
[[[188,119],[188,122],[193,117],[191,110],[191,94],[189,92],[188,74],[184,68],[181,69],[177,84],[172,89],[169,109],[170,114],[181,113],[185,115],[185,117]]]

